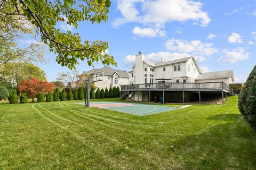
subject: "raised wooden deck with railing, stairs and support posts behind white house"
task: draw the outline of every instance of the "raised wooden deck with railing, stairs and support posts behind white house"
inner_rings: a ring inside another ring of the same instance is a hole
[[[121,86],[120,96],[121,99],[126,98],[131,92],[134,91],[148,91],[149,101],[151,91],[163,91],[163,103],[165,91],[177,91],[182,92],[182,103],[184,103],[184,92],[198,92],[199,93],[199,103],[201,103],[201,91],[209,92],[221,92],[222,94],[222,104],[224,103],[224,92],[227,99],[227,93],[233,95],[233,89],[229,88],[228,84],[225,82],[206,82],[206,83],[143,83],[143,84],[131,84]]]

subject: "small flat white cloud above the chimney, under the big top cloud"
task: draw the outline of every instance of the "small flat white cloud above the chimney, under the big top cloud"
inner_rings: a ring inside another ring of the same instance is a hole
[[[166,32],[153,28],[134,27],[132,32],[140,37],[164,37]]]

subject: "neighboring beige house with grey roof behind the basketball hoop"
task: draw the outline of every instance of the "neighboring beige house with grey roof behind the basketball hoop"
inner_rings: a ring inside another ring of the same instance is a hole
[[[108,88],[114,86],[122,86],[125,84],[129,84],[129,74],[123,70],[112,69],[109,66],[105,66],[102,69],[92,69],[90,71],[84,71],[83,74],[91,75],[95,77],[97,73],[103,72],[103,81],[95,82],[96,88]],[[94,78],[94,80],[102,79],[101,77]]]

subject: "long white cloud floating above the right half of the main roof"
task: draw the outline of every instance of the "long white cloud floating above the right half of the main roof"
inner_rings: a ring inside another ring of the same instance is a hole
[[[169,39],[166,41],[165,46],[167,49],[182,53],[191,53],[194,55],[212,55],[217,53],[218,50],[213,48],[213,44],[203,44],[200,40],[180,40],[180,39]]]

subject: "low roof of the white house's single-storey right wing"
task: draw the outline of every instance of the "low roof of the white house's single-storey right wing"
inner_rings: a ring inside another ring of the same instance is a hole
[[[196,80],[223,79],[223,78],[230,78],[230,77],[234,81],[233,71],[232,70],[225,70],[225,71],[201,73],[201,74],[198,75]]]

